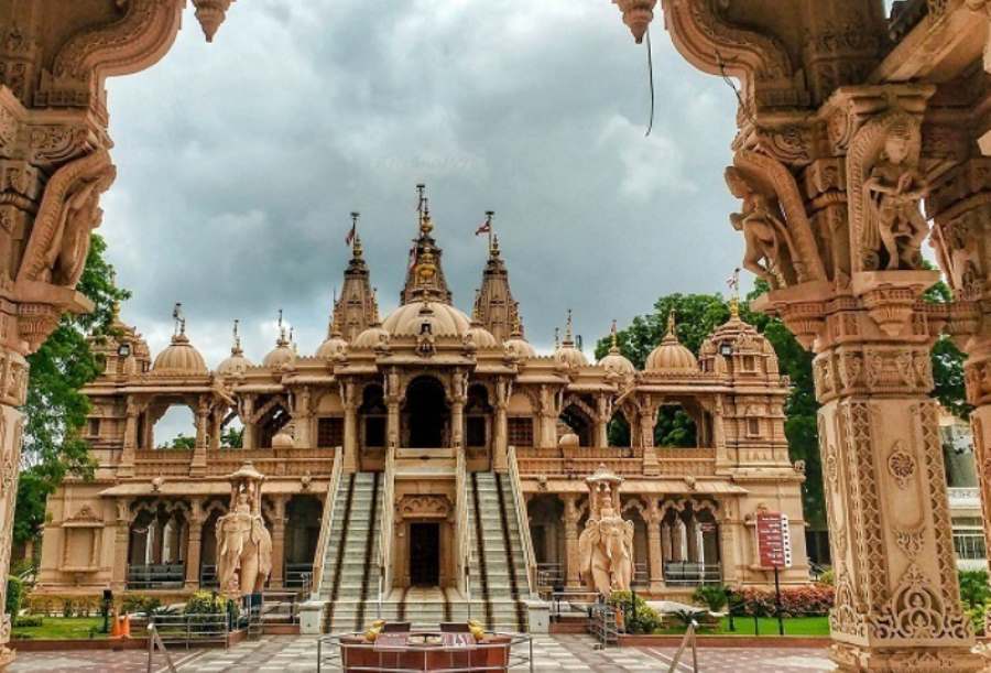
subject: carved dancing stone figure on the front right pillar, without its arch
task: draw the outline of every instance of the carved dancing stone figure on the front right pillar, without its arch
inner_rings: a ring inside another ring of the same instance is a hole
[[[868,205],[864,252],[878,252],[880,242],[887,254],[889,271],[918,269],[919,249],[929,232],[919,209],[928,186],[916,167],[921,139],[913,127],[907,115],[896,115],[890,120],[881,155],[863,184]]]

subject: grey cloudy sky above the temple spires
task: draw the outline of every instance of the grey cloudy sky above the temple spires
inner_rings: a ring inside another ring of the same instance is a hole
[[[134,293],[124,318],[157,351],[182,301],[215,367],[233,318],[258,361],[283,308],[312,352],[350,210],[395,306],[421,181],[462,310],[496,210],[537,347],[568,307],[589,345],[661,294],[723,291],[742,251],[722,183],[734,97],[660,21],[645,138],[646,52],[608,0],[250,0],[211,45],[190,8],[160,64],[108,86],[119,177],[101,232]]]

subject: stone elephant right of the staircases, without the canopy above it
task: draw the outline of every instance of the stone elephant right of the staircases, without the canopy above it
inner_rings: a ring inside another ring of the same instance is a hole
[[[578,538],[579,569],[588,585],[608,597],[633,582],[633,522],[620,517],[589,519]]]

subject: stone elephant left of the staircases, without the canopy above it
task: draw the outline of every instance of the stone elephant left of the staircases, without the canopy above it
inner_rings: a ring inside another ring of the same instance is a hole
[[[217,521],[217,574],[227,595],[257,594],[272,572],[272,536],[258,514],[236,512]]]

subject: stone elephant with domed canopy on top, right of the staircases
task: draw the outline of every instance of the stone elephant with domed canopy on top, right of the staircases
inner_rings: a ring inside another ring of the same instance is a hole
[[[585,481],[590,511],[578,538],[579,568],[589,590],[608,598],[633,582],[633,522],[620,515],[622,477],[600,465]]]

